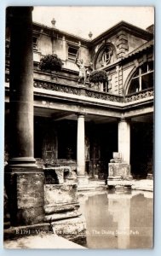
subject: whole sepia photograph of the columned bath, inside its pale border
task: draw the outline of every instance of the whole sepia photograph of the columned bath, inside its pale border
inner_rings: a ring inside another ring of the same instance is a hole
[[[152,249],[154,7],[9,6],[3,247]]]

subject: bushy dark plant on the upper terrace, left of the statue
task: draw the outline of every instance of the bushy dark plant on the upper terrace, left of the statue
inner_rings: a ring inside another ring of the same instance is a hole
[[[61,71],[63,62],[56,54],[46,55],[40,60],[41,70]]]

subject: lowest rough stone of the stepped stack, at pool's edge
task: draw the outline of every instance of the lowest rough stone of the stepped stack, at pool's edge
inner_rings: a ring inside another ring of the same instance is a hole
[[[85,218],[79,216],[77,218],[68,218],[51,223],[53,230],[58,236],[74,239],[78,236],[85,237],[86,222]]]

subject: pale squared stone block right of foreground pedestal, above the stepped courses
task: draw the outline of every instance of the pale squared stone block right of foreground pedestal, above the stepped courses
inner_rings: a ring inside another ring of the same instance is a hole
[[[46,184],[45,191],[45,206],[53,206],[63,203],[78,202],[77,184]]]

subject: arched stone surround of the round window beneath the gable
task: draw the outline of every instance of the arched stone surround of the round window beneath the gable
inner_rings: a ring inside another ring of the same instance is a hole
[[[105,50],[109,48],[112,50],[112,55],[114,58],[116,58],[116,48],[112,43],[107,42],[106,44],[102,44],[101,47],[98,49],[98,51],[95,54],[95,58],[94,58],[94,68],[98,69],[101,68],[101,64],[99,67],[99,62],[101,61],[102,55],[104,54]],[[111,56],[112,59],[112,56]],[[110,63],[111,60],[108,62]],[[108,65],[107,63],[107,65]],[[106,66],[102,66],[102,67],[106,67]]]

